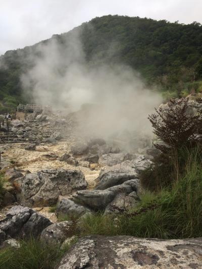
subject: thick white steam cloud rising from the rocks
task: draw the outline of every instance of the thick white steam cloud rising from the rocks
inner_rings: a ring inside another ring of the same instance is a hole
[[[21,78],[24,89],[33,88],[36,103],[67,114],[85,103],[94,104],[90,113],[80,113],[82,135],[106,138],[131,131],[151,135],[147,116],[161,103],[160,94],[146,89],[127,66],[90,67],[78,36],[72,31],[65,46],[56,38],[39,44],[40,57]]]

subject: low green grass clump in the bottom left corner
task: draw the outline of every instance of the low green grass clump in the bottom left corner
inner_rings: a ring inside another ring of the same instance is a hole
[[[58,260],[70,245],[61,246],[45,244],[30,238],[20,241],[20,248],[8,247],[0,250],[1,269],[51,269],[55,268]]]

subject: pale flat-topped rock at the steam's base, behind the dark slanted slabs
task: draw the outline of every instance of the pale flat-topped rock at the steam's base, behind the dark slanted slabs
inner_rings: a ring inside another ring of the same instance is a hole
[[[131,160],[135,156],[129,153],[109,153],[99,157],[98,164],[101,166],[114,166],[123,163],[125,160]]]

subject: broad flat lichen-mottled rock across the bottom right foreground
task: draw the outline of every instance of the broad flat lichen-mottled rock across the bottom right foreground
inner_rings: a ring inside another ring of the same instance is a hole
[[[201,268],[202,239],[160,240],[132,236],[86,236],[57,269]]]

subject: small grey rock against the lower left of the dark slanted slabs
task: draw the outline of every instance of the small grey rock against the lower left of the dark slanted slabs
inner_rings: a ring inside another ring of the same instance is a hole
[[[87,212],[89,212],[87,207],[76,204],[73,200],[65,197],[60,200],[56,208],[57,215],[62,213],[67,214],[69,217],[81,217]]]

